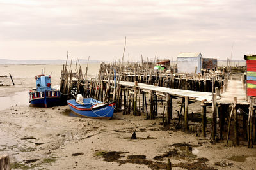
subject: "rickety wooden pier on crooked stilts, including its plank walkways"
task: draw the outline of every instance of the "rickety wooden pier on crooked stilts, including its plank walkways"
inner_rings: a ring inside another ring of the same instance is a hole
[[[145,67],[145,64],[122,66],[102,63],[97,78],[88,80],[86,74],[83,76],[81,66],[77,67],[74,74],[65,65],[61,72],[61,93],[65,99],[80,93],[83,97],[93,97],[100,101],[115,100],[116,111],[133,113],[135,116],[143,113],[148,119],[161,115],[164,126],[172,124],[173,99],[180,98],[178,124],[182,122],[184,132],[199,132],[198,135],[206,136],[206,111],[207,107],[211,107],[212,142],[226,139],[228,145],[232,139],[234,145],[239,145],[241,138],[247,140],[250,137],[250,145],[255,144],[255,129],[251,130],[255,126],[254,111],[251,108],[249,113],[244,80],[230,80],[230,77],[230,72],[225,73],[222,69],[199,74],[174,74],[154,71],[147,65]],[[189,124],[189,104],[196,101],[200,101],[200,129]],[[161,113],[159,107],[162,107]],[[248,117],[248,113],[252,116]],[[242,127],[239,126],[240,120],[243,122]]]

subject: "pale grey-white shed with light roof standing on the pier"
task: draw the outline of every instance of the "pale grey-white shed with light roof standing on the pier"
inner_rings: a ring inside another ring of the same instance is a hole
[[[202,54],[200,52],[179,53],[177,56],[178,73],[193,74],[195,71],[196,73],[200,73],[202,68],[201,58]]]

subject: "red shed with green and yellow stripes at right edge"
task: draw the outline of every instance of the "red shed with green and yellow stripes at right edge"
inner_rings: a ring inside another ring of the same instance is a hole
[[[247,66],[247,96],[256,97],[256,55],[244,55],[244,60]]]

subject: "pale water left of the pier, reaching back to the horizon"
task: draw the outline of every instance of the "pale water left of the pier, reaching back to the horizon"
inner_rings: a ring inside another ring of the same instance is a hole
[[[83,70],[83,76],[86,71],[87,64],[81,64]],[[77,66],[78,67],[78,66]],[[99,72],[100,63],[92,63],[88,65],[88,78],[93,78]],[[68,69],[70,66],[68,66]],[[9,73],[12,74],[15,83],[19,80],[22,81],[22,85],[18,85],[17,88],[22,89],[29,87],[35,87],[35,76],[42,74],[42,70],[45,70],[45,75],[51,76],[52,85],[60,84],[60,76],[61,69],[63,69],[63,65],[1,65],[0,64],[0,76],[8,76],[7,78],[0,78],[0,81],[4,81],[8,79],[10,81]],[[72,72],[76,73],[76,64],[72,64],[71,66]],[[79,67],[78,67],[79,69]],[[20,80],[21,79],[21,80]],[[25,81],[25,82],[24,82]],[[14,88],[16,86],[13,86]],[[12,88],[13,88],[12,87]],[[5,87],[0,86],[1,90],[4,90]],[[8,88],[8,87],[6,87]],[[4,110],[6,108],[10,108],[11,106],[19,106],[19,105],[29,105],[29,96],[28,91],[26,92],[17,92],[15,94],[10,94],[7,97],[0,97],[0,110]]]

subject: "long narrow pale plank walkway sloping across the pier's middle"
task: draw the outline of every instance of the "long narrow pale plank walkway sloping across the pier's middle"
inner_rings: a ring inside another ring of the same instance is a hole
[[[134,82],[127,82],[127,81],[120,81],[119,84],[124,87],[134,87],[135,85]],[[196,101],[203,101],[203,100],[212,101],[211,92],[197,92],[197,91],[191,91],[191,90],[171,89],[168,87],[159,87],[154,85],[147,85],[144,83],[138,83],[137,87],[141,90],[153,90],[154,92],[159,92],[162,94],[170,94],[171,96],[175,96],[175,97],[189,97],[189,99],[194,99]],[[220,97],[217,96],[217,99],[220,99]]]

